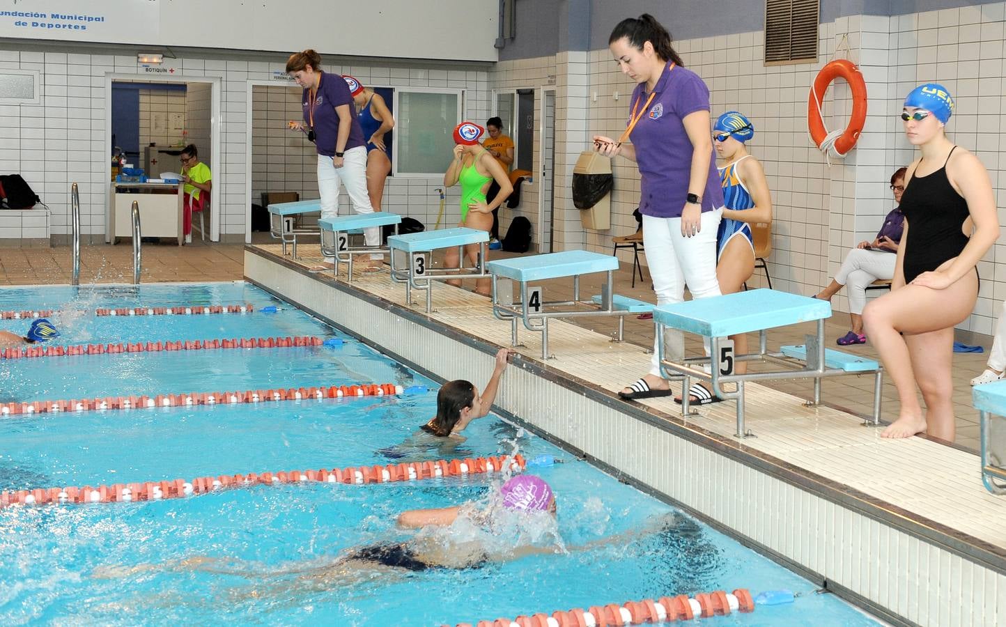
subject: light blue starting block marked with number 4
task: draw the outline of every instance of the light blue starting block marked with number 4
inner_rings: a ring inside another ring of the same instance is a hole
[[[511,324],[511,343],[517,346],[517,323],[524,328],[541,333],[541,358],[548,355],[548,319],[580,316],[618,316],[619,331],[616,341],[622,341],[625,316],[652,311],[653,305],[614,293],[615,271],[618,258],[586,251],[565,251],[489,262],[493,278],[493,315]],[[590,301],[580,299],[579,278],[582,275],[606,273],[602,294]],[[532,281],[547,279],[572,279],[571,301],[545,301],[539,287],[530,287]],[[519,288],[514,300],[513,286]]]

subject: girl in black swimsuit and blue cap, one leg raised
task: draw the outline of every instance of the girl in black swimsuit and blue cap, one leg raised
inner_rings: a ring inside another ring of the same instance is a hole
[[[985,166],[945,133],[953,113],[950,92],[932,83],[912,90],[901,110],[904,134],[921,156],[905,174],[904,229],[890,293],[863,311],[866,333],[901,405],[897,420],[881,434],[885,438],[926,432],[954,441],[954,327],[971,314],[978,299],[978,262],[999,237]]]

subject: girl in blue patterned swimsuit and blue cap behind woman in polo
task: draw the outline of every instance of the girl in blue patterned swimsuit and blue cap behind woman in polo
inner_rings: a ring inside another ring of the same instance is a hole
[[[765,169],[747,153],[745,142],[754,137],[754,125],[743,114],[728,111],[712,125],[712,145],[723,161],[718,167],[723,189],[723,216],[716,232],[716,280],[723,294],[739,292],[754,272],[753,224],[772,222],[772,194]],[[734,354],[747,352],[747,336],[731,335]],[[736,372],[746,371],[746,362],[736,362]],[[706,405],[720,399],[702,383],[689,389],[689,403]],[[680,403],[680,398],[675,399]]]

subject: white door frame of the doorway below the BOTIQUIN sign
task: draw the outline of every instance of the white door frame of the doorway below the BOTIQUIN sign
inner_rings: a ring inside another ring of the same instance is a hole
[[[222,204],[220,204],[220,184],[222,180],[221,163],[223,162],[220,155],[220,100],[222,94],[222,84],[223,79],[221,76],[186,76],[183,72],[177,74],[171,74],[170,76],[162,76],[159,74],[130,74],[118,71],[109,71],[105,73],[105,154],[107,159],[105,162],[105,167],[108,168],[109,164],[112,162],[112,83],[114,81],[133,81],[141,83],[208,83],[210,84],[210,114],[209,114],[209,135],[210,143],[213,146],[212,156],[209,159],[209,170],[213,173],[213,186],[209,192],[209,206],[211,207],[209,211],[209,240],[210,242],[220,241],[220,213],[222,212]],[[142,148],[142,147],[141,147]],[[110,173],[110,172],[107,172]],[[220,178],[217,178],[217,177]],[[108,220],[109,220],[109,199],[108,199],[108,189],[106,188],[106,207],[105,207],[105,220],[106,233],[110,232]]]

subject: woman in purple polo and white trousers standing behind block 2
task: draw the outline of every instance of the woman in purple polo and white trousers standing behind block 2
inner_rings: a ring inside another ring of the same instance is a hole
[[[339,214],[340,183],[346,185],[354,211],[373,213],[367,194],[366,144],[346,82],[340,74],[323,72],[321,55],[314,50],[291,54],[287,59],[287,73],[304,88],[306,126],[292,122],[291,128],[307,133],[308,139],[318,149],[318,193],[321,196],[322,218],[329,219]],[[365,228],[363,238],[367,246],[379,243],[377,228]],[[364,272],[379,270],[378,263],[377,260],[370,261],[370,267],[365,267]],[[329,263],[311,270],[319,272],[331,267]]]

